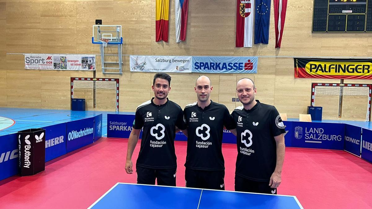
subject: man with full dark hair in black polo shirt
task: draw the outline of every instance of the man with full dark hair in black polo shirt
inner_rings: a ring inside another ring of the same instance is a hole
[[[137,183],[176,186],[176,126],[186,129],[179,105],[168,100],[170,76],[157,73],[152,89],[155,97],[137,107],[133,129],[128,139],[125,171],[132,174],[132,154],[143,127],[140,153],[137,159]]]

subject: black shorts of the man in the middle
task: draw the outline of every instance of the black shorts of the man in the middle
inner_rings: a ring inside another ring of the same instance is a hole
[[[225,170],[205,171],[186,168],[185,186],[201,189],[225,190]]]

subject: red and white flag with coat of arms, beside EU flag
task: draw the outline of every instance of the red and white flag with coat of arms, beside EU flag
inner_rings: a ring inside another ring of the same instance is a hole
[[[254,0],[237,0],[236,47],[252,47]]]

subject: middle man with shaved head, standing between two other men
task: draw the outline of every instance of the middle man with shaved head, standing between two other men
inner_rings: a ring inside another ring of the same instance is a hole
[[[224,126],[235,129],[235,123],[225,105],[212,102],[211,80],[201,76],[196,80],[198,101],[187,105],[186,187],[224,190],[225,164],[222,156]]]

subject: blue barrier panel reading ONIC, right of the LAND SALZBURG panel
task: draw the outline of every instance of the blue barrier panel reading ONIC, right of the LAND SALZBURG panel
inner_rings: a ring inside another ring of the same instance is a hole
[[[362,145],[362,128],[345,124],[344,150],[360,156],[360,146]]]

